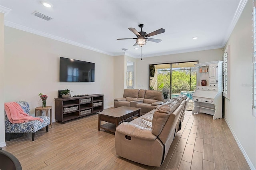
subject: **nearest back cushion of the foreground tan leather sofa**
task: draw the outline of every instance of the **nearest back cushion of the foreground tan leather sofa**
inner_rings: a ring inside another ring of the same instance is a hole
[[[170,113],[172,113],[179,105],[180,103],[178,101],[171,99],[164,103],[164,105],[160,105],[156,108],[152,120],[152,133],[154,135],[158,136],[162,132]]]

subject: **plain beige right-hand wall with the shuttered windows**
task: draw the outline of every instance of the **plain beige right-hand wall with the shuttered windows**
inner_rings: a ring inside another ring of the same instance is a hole
[[[224,100],[225,119],[256,168],[256,118],[252,116],[252,1],[248,1],[227,45],[230,45],[230,100]]]

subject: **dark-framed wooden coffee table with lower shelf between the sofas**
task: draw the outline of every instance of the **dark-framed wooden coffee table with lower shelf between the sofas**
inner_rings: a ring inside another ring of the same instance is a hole
[[[140,116],[140,108],[122,106],[115,109],[102,111],[101,113],[98,113],[98,115],[98,130],[102,128],[105,131],[108,130],[110,132],[116,132],[116,127],[120,123],[131,121],[133,117]],[[101,121],[105,121],[108,123],[101,125]]]

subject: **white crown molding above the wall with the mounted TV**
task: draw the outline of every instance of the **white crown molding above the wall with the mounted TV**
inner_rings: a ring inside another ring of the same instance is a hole
[[[13,22],[5,21],[5,22],[4,22],[4,25],[5,25],[5,26],[12,27],[12,28],[16,28],[16,29],[18,29],[18,30],[30,32],[30,33],[32,33],[32,34],[36,34],[36,35],[39,35],[39,36],[43,36],[43,37],[46,37],[46,38],[51,38],[51,39],[53,39],[53,40],[57,40],[57,41],[60,41],[60,42],[68,43],[68,44],[71,44],[71,45],[76,45],[76,46],[78,46],[78,47],[82,47],[82,48],[85,48],[85,49],[90,49],[90,50],[92,50],[92,51],[96,51],[96,52],[103,53],[103,54],[106,54],[106,55],[111,55],[111,56],[114,55],[113,53],[108,53],[108,52],[106,52],[106,51],[102,51],[102,50],[100,50],[100,49],[96,49],[96,48],[93,48],[93,47],[84,45],[84,44],[82,44],[82,43],[73,42],[73,41],[71,41],[71,40],[67,40],[67,39],[65,39],[65,38],[61,38],[61,37],[54,36],[54,35],[51,35],[51,34],[48,34],[48,33],[45,33],[45,32],[41,32],[41,31],[38,31],[38,30],[34,30],[34,29],[32,29],[32,28],[28,28],[28,27],[26,27],[26,26],[22,26],[22,25],[19,25],[19,24],[15,24],[15,23],[13,23]]]

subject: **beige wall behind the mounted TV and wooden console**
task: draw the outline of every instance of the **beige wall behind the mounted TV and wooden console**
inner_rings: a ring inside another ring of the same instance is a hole
[[[95,82],[59,82],[59,57],[95,63]],[[114,105],[112,56],[6,26],[4,66],[5,102],[28,101],[32,115],[42,106],[38,94],[44,93],[54,119],[54,98],[63,89],[71,89],[71,95],[104,94],[104,108]]]

